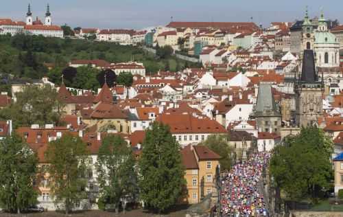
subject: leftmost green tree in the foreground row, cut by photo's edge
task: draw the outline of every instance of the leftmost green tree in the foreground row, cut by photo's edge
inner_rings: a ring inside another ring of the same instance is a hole
[[[37,203],[36,154],[18,135],[0,141],[0,207],[17,212]]]

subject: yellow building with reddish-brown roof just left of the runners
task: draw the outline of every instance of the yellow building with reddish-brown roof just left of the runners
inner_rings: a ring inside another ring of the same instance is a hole
[[[182,203],[200,203],[201,198],[216,191],[215,177],[220,156],[206,146],[191,144],[181,150],[181,155],[187,181],[187,196],[182,198]]]

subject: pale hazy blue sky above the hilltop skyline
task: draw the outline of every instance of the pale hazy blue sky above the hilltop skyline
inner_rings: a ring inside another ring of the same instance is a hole
[[[0,18],[24,21],[28,3],[40,19],[49,3],[54,24],[72,27],[141,29],[166,25],[171,16],[174,21],[251,21],[252,16],[266,26],[302,19],[306,5],[310,16],[323,8],[327,18],[343,21],[342,0],[1,0]]]

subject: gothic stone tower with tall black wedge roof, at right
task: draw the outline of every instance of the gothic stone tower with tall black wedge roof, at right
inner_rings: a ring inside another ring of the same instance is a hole
[[[314,51],[305,49],[301,76],[294,85],[296,93],[296,124],[314,126],[322,116],[324,84],[318,80]]]

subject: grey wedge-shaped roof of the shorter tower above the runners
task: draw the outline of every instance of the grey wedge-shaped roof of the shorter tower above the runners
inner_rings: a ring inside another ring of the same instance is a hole
[[[259,85],[259,94],[257,95],[257,104],[255,106],[255,117],[260,116],[280,116],[276,107],[272,86],[270,84]]]

